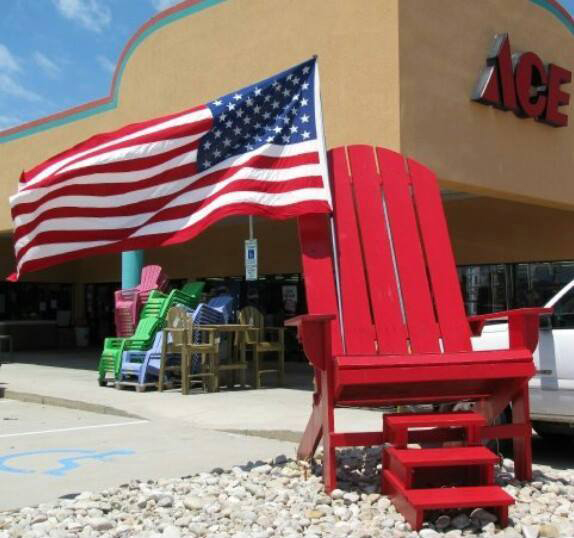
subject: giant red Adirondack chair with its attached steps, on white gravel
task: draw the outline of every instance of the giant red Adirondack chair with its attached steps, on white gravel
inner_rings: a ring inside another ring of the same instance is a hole
[[[383,490],[413,526],[420,527],[425,510],[473,505],[500,508],[504,522],[512,499],[492,486],[492,455],[484,447],[428,449],[414,456],[404,449],[408,441],[448,440],[462,431],[452,426],[470,432],[467,445],[512,438],[516,475],[530,479],[528,380],[535,373],[538,318],[547,311],[528,308],[467,319],[440,191],[424,166],[382,148],[349,146],[329,152],[329,168],[332,227],[325,215],[299,218],[309,314],[287,321],[298,328],[315,369],[313,410],[298,456],[310,458],[323,439],[330,491],[336,487],[337,447],[385,441],[394,447],[385,456]],[[489,319],[508,321],[509,349],[472,350],[471,332],[480,334]],[[391,415],[385,433],[334,429],[338,406],[459,401],[476,402],[476,411]],[[512,424],[494,426],[509,403]],[[412,430],[421,426],[426,430]],[[460,466],[461,461],[482,466],[482,489],[409,493],[410,486],[397,479],[417,465]]]

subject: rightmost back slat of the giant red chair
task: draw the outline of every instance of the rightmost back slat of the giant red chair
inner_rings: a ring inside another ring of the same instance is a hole
[[[434,174],[408,160],[422,243],[445,351],[471,351],[470,330]]]

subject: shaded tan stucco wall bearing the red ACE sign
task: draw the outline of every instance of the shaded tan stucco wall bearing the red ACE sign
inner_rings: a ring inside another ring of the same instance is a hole
[[[509,33],[513,52],[574,70],[568,29],[527,0],[401,0],[399,9],[401,151],[453,188],[574,209],[574,95],[565,128],[470,101],[496,33]]]

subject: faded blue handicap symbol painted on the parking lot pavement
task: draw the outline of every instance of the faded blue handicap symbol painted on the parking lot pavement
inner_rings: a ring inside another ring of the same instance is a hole
[[[43,456],[45,454],[73,454],[70,456],[61,457],[56,460],[57,467],[48,469],[47,471],[37,471],[25,467],[15,467],[9,465],[8,462],[13,460],[20,460],[33,456]],[[117,456],[131,456],[135,454],[133,450],[80,450],[80,449],[49,449],[49,450],[35,450],[33,452],[16,452],[14,454],[7,454],[0,456],[0,472],[16,473],[16,474],[33,474],[42,472],[51,476],[64,476],[66,473],[77,469],[83,460],[96,460],[96,461],[109,461]]]

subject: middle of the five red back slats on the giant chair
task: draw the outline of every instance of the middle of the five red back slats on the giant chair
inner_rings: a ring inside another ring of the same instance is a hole
[[[407,331],[373,148],[350,147],[349,163],[378,353],[407,353]]]

